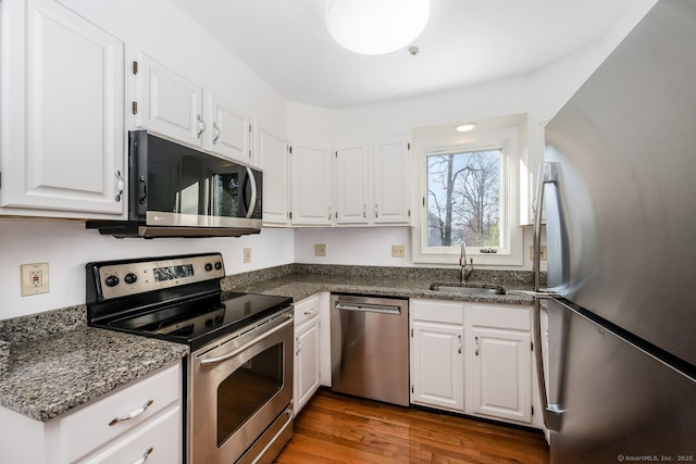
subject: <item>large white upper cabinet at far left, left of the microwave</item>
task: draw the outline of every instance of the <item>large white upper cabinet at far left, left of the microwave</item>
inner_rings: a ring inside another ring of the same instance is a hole
[[[0,205],[124,214],[124,42],[53,0],[2,13]]]

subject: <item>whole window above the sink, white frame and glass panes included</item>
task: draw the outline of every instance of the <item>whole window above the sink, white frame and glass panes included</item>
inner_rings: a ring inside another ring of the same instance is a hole
[[[448,128],[451,134],[451,126]],[[414,131],[419,208],[413,261],[457,264],[462,241],[476,265],[520,266],[519,137],[502,127],[465,138]]]

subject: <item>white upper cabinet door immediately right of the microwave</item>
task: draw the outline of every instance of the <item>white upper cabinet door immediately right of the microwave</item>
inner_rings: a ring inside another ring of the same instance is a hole
[[[263,165],[263,225],[285,226],[290,211],[287,143],[258,125],[257,140],[258,162]]]

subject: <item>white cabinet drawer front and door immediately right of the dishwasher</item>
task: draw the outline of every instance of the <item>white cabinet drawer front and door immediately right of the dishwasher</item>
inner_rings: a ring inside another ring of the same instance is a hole
[[[464,308],[411,300],[411,402],[464,411]]]

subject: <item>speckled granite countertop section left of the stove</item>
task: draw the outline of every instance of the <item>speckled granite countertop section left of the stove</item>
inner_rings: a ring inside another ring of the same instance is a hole
[[[188,354],[188,346],[88,326],[10,346],[0,406],[48,421]]]

